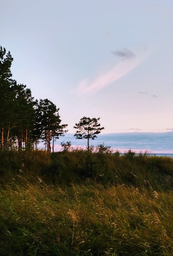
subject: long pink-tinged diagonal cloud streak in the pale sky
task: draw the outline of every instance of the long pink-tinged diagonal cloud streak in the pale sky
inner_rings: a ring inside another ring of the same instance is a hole
[[[142,63],[147,57],[148,53],[143,53],[133,59],[126,59],[120,61],[111,70],[105,72],[104,74],[96,77],[93,82],[90,82],[89,78],[84,79],[77,88],[79,94],[95,93],[98,92],[105,86],[108,86],[115,82],[117,79],[125,76],[140,63]]]

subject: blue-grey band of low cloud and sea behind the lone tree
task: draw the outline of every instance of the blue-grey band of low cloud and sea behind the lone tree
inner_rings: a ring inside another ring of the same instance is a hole
[[[55,150],[60,150],[61,142],[71,141],[72,145],[85,146],[86,139],[76,139],[74,134],[65,134],[56,140]],[[151,154],[160,156],[173,156],[173,131],[162,133],[108,133],[99,134],[94,140],[90,139],[90,145],[97,146],[104,143],[121,153],[131,150],[138,153],[139,151],[149,151]]]

